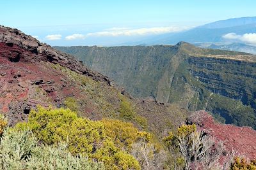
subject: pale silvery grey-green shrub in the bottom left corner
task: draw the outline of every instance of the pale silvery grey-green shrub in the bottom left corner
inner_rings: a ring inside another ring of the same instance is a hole
[[[0,143],[1,169],[104,169],[103,164],[83,155],[73,156],[61,143],[53,147],[38,145],[30,131],[7,128]]]

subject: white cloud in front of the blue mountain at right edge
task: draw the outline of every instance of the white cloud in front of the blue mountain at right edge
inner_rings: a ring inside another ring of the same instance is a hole
[[[235,39],[235,40],[243,41],[244,43],[256,44],[256,33],[246,33],[243,35],[238,35],[234,32],[231,32],[231,33],[225,34],[224,36],[222,36],[222,38]]]

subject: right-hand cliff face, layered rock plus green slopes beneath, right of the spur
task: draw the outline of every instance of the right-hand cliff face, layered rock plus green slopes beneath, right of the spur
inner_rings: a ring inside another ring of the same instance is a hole
[[[256,128],[255,71],[255,62],[188,57],[175,74],[169,103],[210,111],[226,124]]]

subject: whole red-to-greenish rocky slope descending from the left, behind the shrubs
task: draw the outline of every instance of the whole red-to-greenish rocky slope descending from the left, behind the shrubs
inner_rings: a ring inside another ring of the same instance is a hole
[[[188,111],[155,99],[134,99],[108,77],[71,55],[17,29],[0,27],[0,112],[10,125],[27,120],[36,105],[68,107],[93,120],[118,118],[163,136],[184,122]],[[125,115],[120,110],[131,111]]]

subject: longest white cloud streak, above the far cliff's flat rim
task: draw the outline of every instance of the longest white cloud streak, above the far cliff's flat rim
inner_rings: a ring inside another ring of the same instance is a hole
[[[145,36],[150,34],[164,34],[170,32],[180,32],[189,29],[188,27],[151,27],[151,28],[140,28],[131,29],[126,27],[114,27],[106,29],[100,32],[90,32],[88,34],[72,34],[66,36],[67,40],[84,39],[87,37],[99,37],[99,36]]]

